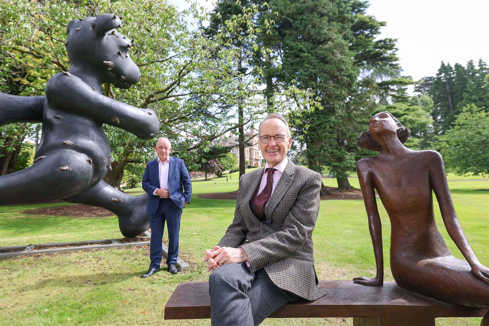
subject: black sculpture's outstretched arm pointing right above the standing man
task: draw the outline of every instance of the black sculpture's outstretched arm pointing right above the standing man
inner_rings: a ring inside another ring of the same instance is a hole
[[[153,110],[139,109],[104,96],[71,74],[51,77],[46,85],[46,97],[56,109],[127,130],[141,139],[151,139],[159,130]]]

